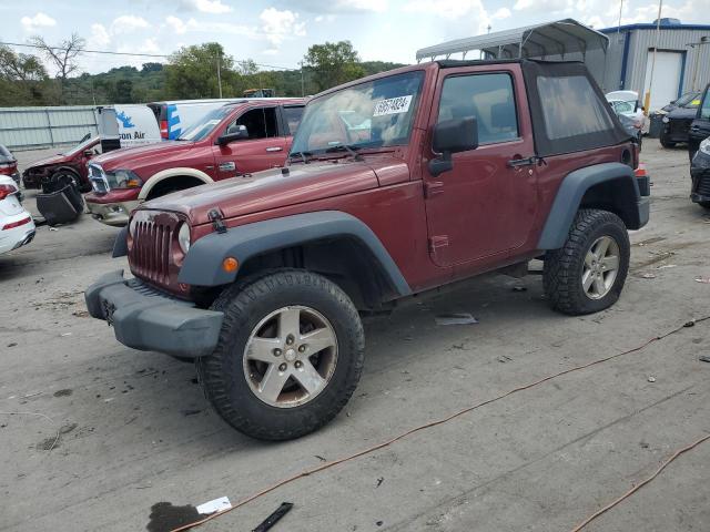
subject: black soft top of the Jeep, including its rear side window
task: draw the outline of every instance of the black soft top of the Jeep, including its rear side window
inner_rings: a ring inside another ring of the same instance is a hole
[[[596,150],[630,140],[604,92],[579,61],[494,59],[437,63],[442,69],[519,63],[538,156]]]

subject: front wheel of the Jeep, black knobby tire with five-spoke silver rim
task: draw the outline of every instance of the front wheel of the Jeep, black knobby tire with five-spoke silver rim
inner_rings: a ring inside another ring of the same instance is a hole
[[[197,374],[217,415],[240,432],[262,440],[305,436],[355,391],[363,326],[347,295],[325,277],[265,273],[225,289],[212,308],[224,321]]]

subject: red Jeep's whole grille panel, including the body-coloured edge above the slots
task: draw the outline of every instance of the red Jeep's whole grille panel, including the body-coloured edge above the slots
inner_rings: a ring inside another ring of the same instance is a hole
[[[172,288],[179,267],[173,260],[175,235],[180,218],[173,213],[136,211],[133,214],[133,237],[129,250],[131,272],[139,278]]]

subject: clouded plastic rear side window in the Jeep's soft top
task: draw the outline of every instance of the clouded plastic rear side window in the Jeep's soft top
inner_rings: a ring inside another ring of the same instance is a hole
[[[613,130],[609,113],[586,76],[539,76],[537,90],[548,139]]]

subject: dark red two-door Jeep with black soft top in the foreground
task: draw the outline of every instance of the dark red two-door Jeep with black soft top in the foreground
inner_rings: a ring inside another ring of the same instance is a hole
[[[124,345],[195,359],[217,413],[261,439],[347,402],[359,311],[532,258],[555,309],[599,311],[649,216],[635,144],[581,63],[358,80],[308,102],[288,158],[141,205],[114,248],[134,277],[85,294]]]

